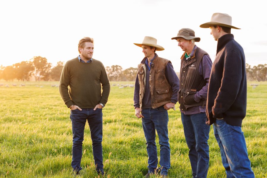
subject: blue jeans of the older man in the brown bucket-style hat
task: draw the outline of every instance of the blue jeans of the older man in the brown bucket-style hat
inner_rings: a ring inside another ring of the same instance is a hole
[[[185,140],[189,148],[192,175],[196,178],[207,177],[209,169],[209,130],[206,113],[185,115],[181,113]]]

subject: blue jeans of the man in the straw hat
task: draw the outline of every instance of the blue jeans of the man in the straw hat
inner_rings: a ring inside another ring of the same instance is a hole
[[[160,106],[156,109],[142,109],[142,125],[146,137],[147,155],[148,155],[148,172],[154,173],[158,167],[158,153],[156,146],[156,132],[158,133],[160,144],[160,174],[168,175],[171,167],[171,149],[168,137],[168,111]]]

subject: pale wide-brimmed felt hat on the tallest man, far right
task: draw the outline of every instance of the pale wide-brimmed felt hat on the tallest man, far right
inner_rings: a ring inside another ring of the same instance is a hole
[[[212,18],[210,22],[203,23],[200,25],[201,28],[209,28],[210,26],[223,26],[223,27],[229,27],[229,28],[235,28],[235,29],[241,29],[237,28],[235,26],[232,26],[232,17],[228,14],[222,14],[222,13],[214,13],[212,14]]]

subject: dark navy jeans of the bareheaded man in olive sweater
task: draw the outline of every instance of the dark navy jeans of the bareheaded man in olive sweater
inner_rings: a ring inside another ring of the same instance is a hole
[[[82,108],[71,110],[70,119],[72,122],[72,161],[71,167],[74,171],[80,171],[82,159],[82,141],[84,135],[84,127],[86,120],[90,127],[93,157],[95,160],[96,171],[103,170],[103,155],[102,155],[102,109],[86,109]]]

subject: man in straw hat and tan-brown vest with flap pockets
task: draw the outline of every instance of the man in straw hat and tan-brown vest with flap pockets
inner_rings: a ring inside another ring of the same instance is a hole
[[[160,171],[161,177],[167,177],[170,169],[170,144],[168,137],[168,112],[177,102],[179,79],[171,61],[160,58],[155,51],[164,50],[157,45],[157,39],[145,36],[141,44],[144,59],[138,65],[138,74],[134,89],[135,115],[142,117],[142,125],[147,144],[148,173],[146,177]],[[142,111],[142,113],[141,113]],[[160,144],[160,168],[157,169],[158,156],[155,142],[157,130]]]

